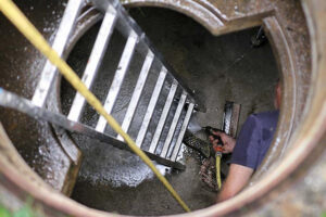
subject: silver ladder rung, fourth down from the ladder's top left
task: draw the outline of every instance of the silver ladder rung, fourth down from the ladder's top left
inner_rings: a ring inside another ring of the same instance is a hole
[[[136,87],[135,87],[135,91],[133,93],[129,106],[127,108],[127,112],[126,112],[126,115],[125,115],[125,118],[124,118],[124,122],[122,124],[122,129],[125,132],[127,132],[128,129],[129,129],[131,119],[133,119],[133,117],[135,115],[135,111],[136,111],[136,107],[138,105],[138,102],[139,102],[139,99],[140,99],[140,94],[141,94],[142,89],[145,87],[145,82],[146,82],[146,79],[147,79],[147,76],[149,74],[149,71],[150,71],[150,67],[152,65],[153,60],[154,60],[154,54],[149,50],[148,53],[147,53],[147,55],[146,55],[143,65],[141,67],[141,71],[140,71],[140,74],[139,74],[139,78],[137,80],[137,84],[136,84]],[[118,140],[123,140],[123,138],[120,135],[118,135],[117,139]]]

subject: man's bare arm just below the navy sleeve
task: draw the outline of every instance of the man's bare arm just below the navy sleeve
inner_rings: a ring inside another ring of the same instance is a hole
[[[231,164],[229,167],[228,176],[223,183],[222,190],[217,195],[216,202],[223,202],[227,199],[235,196],[247,186],[253,169],[238,164]]]

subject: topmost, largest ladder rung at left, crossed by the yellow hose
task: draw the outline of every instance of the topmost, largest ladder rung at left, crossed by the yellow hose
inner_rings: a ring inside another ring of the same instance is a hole
[[[70,38],[75,21],[80,12],[84,0],[70,0],[64,11],[58,33],[55,35],[52,48],[61,56],[65,44]],[[33,95],[33,104],[42,107],[47,100],[51,85],[54,80],[57,67],[48,60],[40,76],[35,93]]]

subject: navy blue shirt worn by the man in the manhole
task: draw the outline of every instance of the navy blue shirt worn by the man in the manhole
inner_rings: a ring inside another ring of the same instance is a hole
[[[272,143],[278,111],[250,115],[242,126],[231,156],[231,164],[256,169]]]

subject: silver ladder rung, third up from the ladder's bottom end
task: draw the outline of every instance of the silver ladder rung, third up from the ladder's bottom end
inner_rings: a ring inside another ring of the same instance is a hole
[[[160,117],[158,127],[156,127],[156,129],[155,129],[155,133],[154,133],[154,136],[153,136],[151,145],[150,145],[150,148],[149,148],[149,152],[151,152],[151,153],[154,153],[155,150],[156,150],[158,142],[159,142],[159,140],[160,140],[160,137],[161,137],[161,133],[162,133],[162,130],[163,130],[163,127],[164,127],[166,117],[167,117],[167,115],[168,115],[168,112],[170,112],[170,108],[171,108],[171,105],[172,105],[172,102],[173,102],[175,92],[176,92],[176,90],[177,90],[177,87],[178,87],[178,82],[177,82],[176,79],[174,79],[174,80],[173,80],[173,84],[172,84],[172,86],[171,86],[171,89],[170,89],[170,92],[168,92],[166,102],[165,102],[165,104],[164,104],[163,112],[162,112],[162,114],[161,114],[161,117]]]

